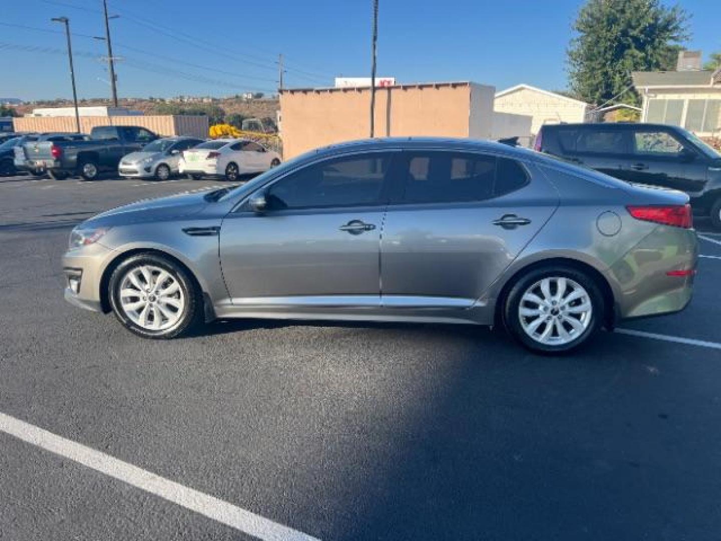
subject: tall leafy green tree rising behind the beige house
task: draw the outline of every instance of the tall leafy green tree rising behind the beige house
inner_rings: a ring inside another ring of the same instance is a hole
[[[636,105],[632,71],[674,69],[689,38],[689,15],[660,0],[587,0],[573,24],[567,50],[572,92],[601,104],[617,99]]]

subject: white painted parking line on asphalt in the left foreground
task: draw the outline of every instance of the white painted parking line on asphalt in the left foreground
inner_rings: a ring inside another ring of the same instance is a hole
[[[75,441],[57,436],[25,421],[0,413],[0,431],[31,445],[59,454],[74,462],[105,473],[143,491],[207,516],[247,535],[273,541],[318,541],[303,532],[283,526],[263,516],[246,511],[226,501],[213,498],[193,488],[174,483],[137,466],[123,462]]]

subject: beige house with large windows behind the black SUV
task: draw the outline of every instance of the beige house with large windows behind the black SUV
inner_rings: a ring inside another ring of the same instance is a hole
[[[721,136],[721,69],[635,71],[642,122],[682,126],[700,137]]]

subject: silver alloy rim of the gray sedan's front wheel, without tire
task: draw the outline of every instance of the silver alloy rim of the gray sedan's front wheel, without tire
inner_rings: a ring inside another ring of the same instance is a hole
[[[120,307],[130,320],[145,330],[166,330],[176,325],[185,308],[180,282],[154,265],[140,265],[120,281]]]

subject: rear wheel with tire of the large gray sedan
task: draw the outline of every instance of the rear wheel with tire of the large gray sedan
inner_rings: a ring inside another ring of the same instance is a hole
[[[570,265],[549,265],[523,275],[504,307],[508,331],[536,353],[567,353],[587,343],[603,322],[596,281]]]

